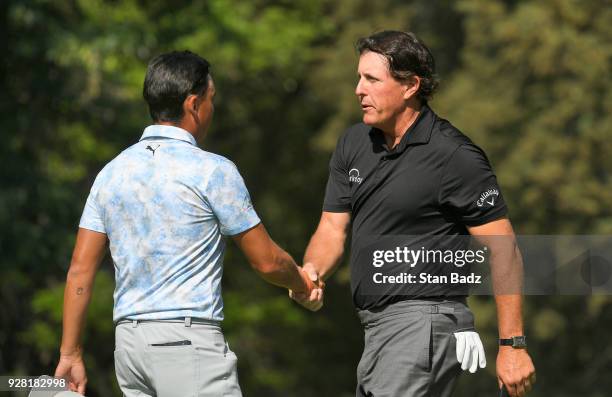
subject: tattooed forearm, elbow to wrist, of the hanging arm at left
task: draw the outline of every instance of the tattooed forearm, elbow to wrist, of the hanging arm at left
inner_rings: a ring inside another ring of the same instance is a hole
[[[60,353],[81,352],[81,331],[85,324],[95,273],[71,270],[64,290],[63,332]]]

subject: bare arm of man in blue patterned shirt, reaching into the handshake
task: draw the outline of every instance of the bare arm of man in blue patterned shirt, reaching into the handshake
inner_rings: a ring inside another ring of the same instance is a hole
[[[270,238],[263,224],[232,238],[253,269],[267,282],[303,293],[310,293],[315,287],[291,255]]]

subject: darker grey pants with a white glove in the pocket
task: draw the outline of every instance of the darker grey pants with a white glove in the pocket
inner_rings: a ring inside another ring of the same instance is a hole
[[[410,300],[358,312],[365,347],[357,397],[448,397],[461,372],[454,332],[474,329],[465,301]]]

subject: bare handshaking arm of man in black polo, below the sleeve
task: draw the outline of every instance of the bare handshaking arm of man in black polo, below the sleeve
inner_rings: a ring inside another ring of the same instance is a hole
[[[329,278],[344,254],[350,222],[350,212],[323,212],[319,226],[306,248],[304,267],[311,266],[319,277]]]

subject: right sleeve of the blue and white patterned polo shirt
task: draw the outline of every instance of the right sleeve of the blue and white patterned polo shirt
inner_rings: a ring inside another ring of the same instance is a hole
[[[242,233],[261,222],[242,176],[230,161],[220,164],[212,173],[205,195],[223,235]]]

